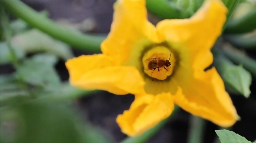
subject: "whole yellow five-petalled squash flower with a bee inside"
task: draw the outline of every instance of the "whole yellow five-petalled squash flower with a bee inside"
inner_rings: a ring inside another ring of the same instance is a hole
[[[238,115],[224,83],[214,67],[205,70],[213,62],[210,49],[221,34],[227,8],[220,0],[208,0],[189,19],[166,19],[154,26],[145,3],[117,0],[102,54],[66,62],[70,83],[134,94],[130,109],[117,117],[129,136],[170,116],[174,103],[219,126],[232,126]]]

